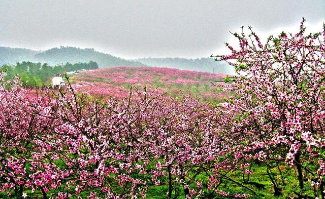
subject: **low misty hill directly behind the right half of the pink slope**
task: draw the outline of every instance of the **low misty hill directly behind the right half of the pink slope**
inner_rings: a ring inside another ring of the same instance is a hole
[[[142,58],[134,59],[148,66],[178,68],[213,73],[234,74],[234,69],[226,62],[215,62],[212,58]]]

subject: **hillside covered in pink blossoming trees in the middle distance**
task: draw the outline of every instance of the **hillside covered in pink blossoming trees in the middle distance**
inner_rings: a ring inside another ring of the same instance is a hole
[[[231,67],[231,66],[230,66]],[[216,102],[229,93],[216,92],[225,74],[186,71],[172,68],[113,67],[83,72],[70,77],[78,92],[89,95],[125,98],[133,89],[155,90],[159,94],[180,97],[190,95],[202,101]]]

